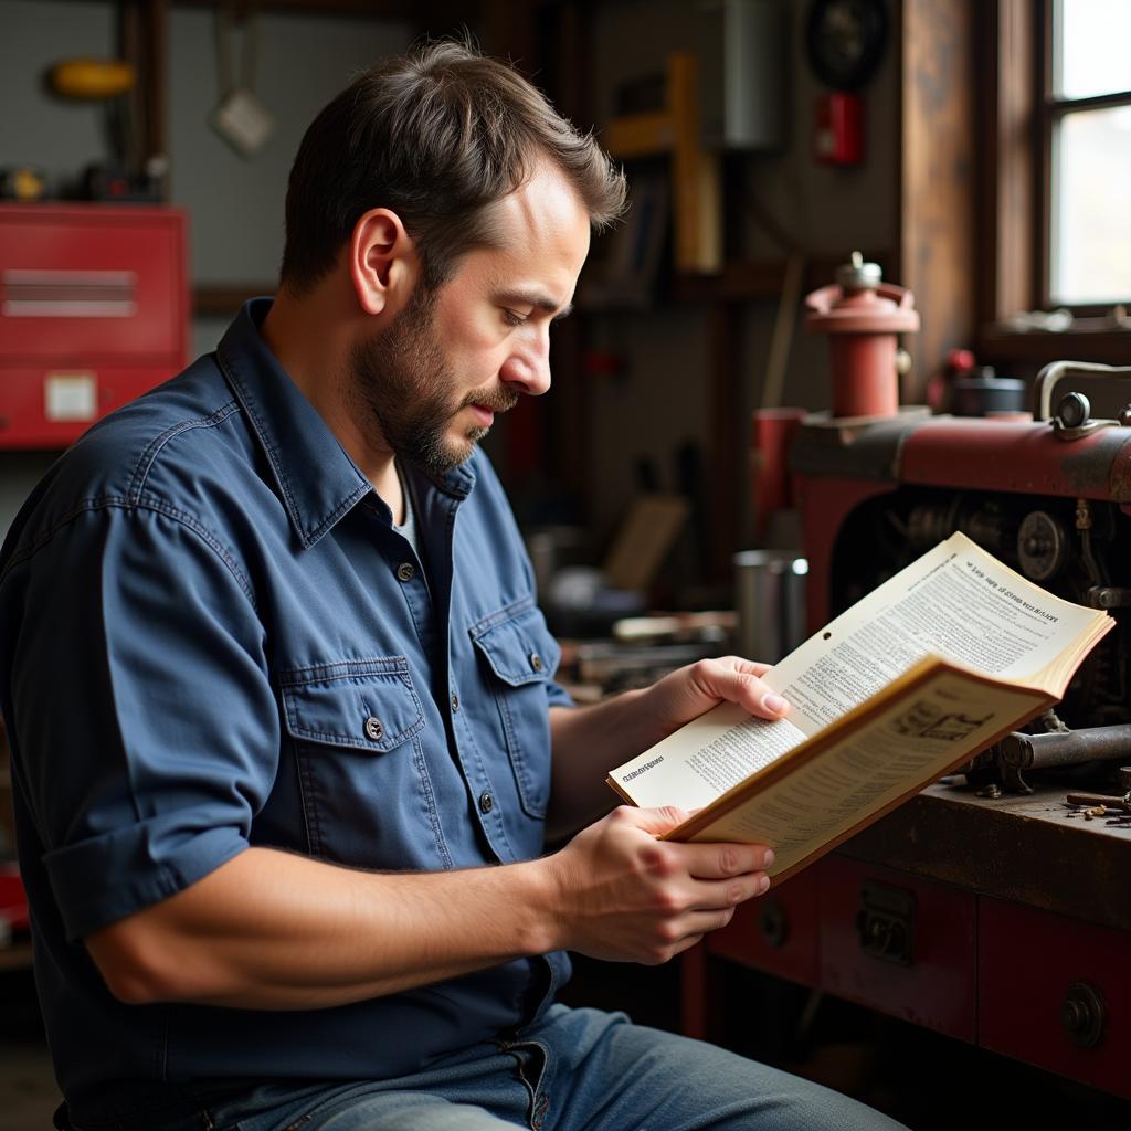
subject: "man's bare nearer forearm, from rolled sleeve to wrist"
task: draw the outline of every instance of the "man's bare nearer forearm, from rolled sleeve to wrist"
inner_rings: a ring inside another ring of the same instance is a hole
[[[552,949],[539,863],[369,873],[248,848],[87,939],[124,1001],[311,1009]]]

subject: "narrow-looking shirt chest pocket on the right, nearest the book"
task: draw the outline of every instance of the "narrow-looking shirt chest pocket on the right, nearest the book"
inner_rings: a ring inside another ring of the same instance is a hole
[[[551,754],[546,684],[561,648],[530,598],[484,618],[469,631],[493,691],[519,802],[529,817],[544,818]]]

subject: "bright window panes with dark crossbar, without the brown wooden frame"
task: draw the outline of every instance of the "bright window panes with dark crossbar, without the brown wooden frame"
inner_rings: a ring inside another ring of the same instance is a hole
[[[1131,3],[1053,0],[1046,51],[1043,297],[1131,301]]]

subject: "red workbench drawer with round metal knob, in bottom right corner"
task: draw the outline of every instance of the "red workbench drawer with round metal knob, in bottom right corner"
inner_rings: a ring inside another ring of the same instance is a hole
[[[1124,932],[982,899],[978,1043],[1131,1097]]]

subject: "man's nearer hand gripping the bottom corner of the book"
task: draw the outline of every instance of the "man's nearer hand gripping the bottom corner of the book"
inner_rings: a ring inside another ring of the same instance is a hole
[[[774,855],[765,845],[656,839],[687,817],[622,806],[545,857],[555,946],[613,961],[666,962],[769,888],[763,869]]]

